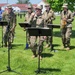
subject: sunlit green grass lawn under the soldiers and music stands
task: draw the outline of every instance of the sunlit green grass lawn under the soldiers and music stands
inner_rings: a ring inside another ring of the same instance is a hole
[[[22,75],[36,75],[35,70],[38,67],[38,58],[32,58],[30,49],[25,48],[25,32],[18,25],[19,22],[24,22],[24,17],[18,17],[15,33],[15,40],[10,50],[11,53],[11,69],[22,73]],[[60,24],[60,17],[56,17],[54,24]],[[50,52],[47,48],[43,50],[41,60],[41,72],[38,75],[75,75],[75,21],[73,22],[73,34],[71,39],[71,50],[60,50],[62,45],[60,29],[54,29],[53,44],[55,52]],[[1,27],[0,27],[0,42],[1,42]],[[8,49],[0,48],[0,72],[6,70],[8,65]],[[14,72],[3,72],[0,75],[19,75]]]

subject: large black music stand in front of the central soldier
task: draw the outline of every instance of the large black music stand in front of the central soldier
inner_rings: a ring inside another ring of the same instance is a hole
[[[29,32],[30,36],[51,36],[51,29],[49,28],[26,28]],[[36,73],[40,73],[40,39],[39,39],[39,48],[38,48],[38,69],[36,70]]]

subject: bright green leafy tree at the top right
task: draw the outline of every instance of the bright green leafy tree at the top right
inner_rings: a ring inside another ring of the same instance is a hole
[[[63,3],[68,3],[68,8],[70,10],[74,10],[75,0],[47,0],[47,2],[51,5],[54,11],[61,11]]]

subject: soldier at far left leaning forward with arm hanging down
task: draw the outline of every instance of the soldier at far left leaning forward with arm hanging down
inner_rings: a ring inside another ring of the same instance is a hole
[[[7,10],[3,13],[3,17],[2,17],[3,21],[7,21],[8,25],[4,26],[4,44],[5,46],[7,46],[8,43],[8,37],[10,37],[10,43],[13,42],[14,39],[14,31],[15,31],[15,27],[16,27],[16,15],[14,14],[13,10],[12,10],[12,6],[8,5],[7,6]],[[8,32],[8,28],[9,28],[9,32]],[[10,36],[8,36],[8,34],[10,33]]]

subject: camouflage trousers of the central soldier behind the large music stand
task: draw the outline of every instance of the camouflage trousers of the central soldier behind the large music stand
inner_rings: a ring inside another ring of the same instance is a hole
[[[36,37],[36,36],[30,36],[30,48],[34,55],[38,55],[38,52],[40,54],[43,51],[43,36]]]

